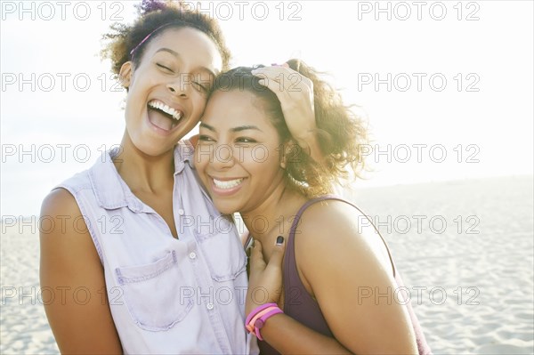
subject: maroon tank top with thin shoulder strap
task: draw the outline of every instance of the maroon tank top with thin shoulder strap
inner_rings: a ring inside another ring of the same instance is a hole
[[[301,278],[298,276],[298,271],[296,269],[296,262],[295,262],[295,230],[296,230],[296,226],[298,225],[298,222],[303,212],[309,206],[312,206],[313,204],[317,202],[324,201],[327,199],[333,199],[333,200],[345,202],[353,206],[358,211],[360,211],[361,214],[363,214],[360,208],[358,208],[357,206],[354,206],[351,202],[346,201],[343,198],[337,198],[331,195],[321,196],[320,198],[313,198],[307,201],[299,209],[298,213],[295,216],[295,220],[293,221],[293,224],[291,225],[291,230],[289,230],[289,238],[287,240],[286,254],[284,255],[284,270],[283,270],[284,313],[286,313],[287,316],[299,321],[304,326],[312,328],[313,330],[315,330],[316,332],[319,332],[322,335],[334,337],[334,335],[330,331],[330,328],[328,327],[328,323],[326,319],[324,318],[322,312],[320,311],[319,303],[317,303],[312,298],[312,295],[309,294],[308,291],[306,291],[306,288],[304,287]],[[376,230],[376,227],[375,227],[375,230]],[[392,262],[393,276],[395,278],[397,286],[399,287],[404,286],[401,276],[399,275],[398,272],[395,271],[395,265],[392,260],[392,255],[389,251],[389,248],[385,244],[384,238],[382,237],[382,235],[380,235],[380,232],[378,230],[376,230],[376,232],[378,233],[380,238],[382,238],[382,241],[384,242],[384,246],[387,249],[387,253],[389,254],[390,261]],[[419,325],[419,321],[417,320],[416,314],[414,313],[411,304],[407,303],[406,306],[408,307],[409,317],[414,327],[414,333],[416,335],[417,349],[419,351],[419,354],[425,354],[425,355],[432,354],[430,347],[426,343],[425,335],[423,334],[423,330],[421,326]],[[260,347],[260,351],[261,351],[260,353],[262,355],[279,354],[279,352],[276,351],[274,348],[272,348],[271,345],[269,345],[267,342],[262,342],[258,340],[258,345]]]

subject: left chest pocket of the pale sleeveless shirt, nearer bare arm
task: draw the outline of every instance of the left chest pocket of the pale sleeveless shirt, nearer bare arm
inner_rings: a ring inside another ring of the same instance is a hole
[[[193,300],[175,292],[176,285],[185,285],[191,275],[192,271],[188,275],[183,270],[187,267],[187,261],[179,261],[173,250],[156,262],[115,270],[125,304],[139,327],[165,331],[187,316]]]

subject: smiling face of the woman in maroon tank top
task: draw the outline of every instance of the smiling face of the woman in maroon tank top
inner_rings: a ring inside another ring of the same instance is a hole
[[[200,123],[198,175],[223,214],[247,213],[283,186],[281,142],[260,99],[216,91]]]

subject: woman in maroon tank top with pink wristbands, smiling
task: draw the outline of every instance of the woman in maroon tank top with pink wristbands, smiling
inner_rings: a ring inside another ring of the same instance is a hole
[[[318,146],[306,151],[288,126],[309,108]],[[232,69],[214,85],[195,164],[217,209],[239,212],[255,240],[246,314],[283,310],[255,323],[262,353],[430,353],[384,240],[328,195],[346,166],[360,169],[365,141],[358,117],[300,61]]]

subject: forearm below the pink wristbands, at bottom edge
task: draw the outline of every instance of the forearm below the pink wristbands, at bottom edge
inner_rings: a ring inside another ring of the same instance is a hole
[[[336,338],[322,335],[285,315],[272,316],[261,329],[263,340],[282,354],[350,354]]]

